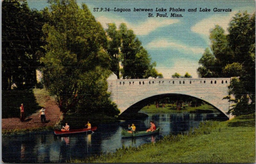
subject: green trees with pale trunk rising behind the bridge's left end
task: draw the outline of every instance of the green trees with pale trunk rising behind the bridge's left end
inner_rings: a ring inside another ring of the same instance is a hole
[[[162,77],[156,71],[156,63],[151,63],[148,52],[131,29],[122,23],[119,29],[114,23],[108,24],[108,54],[111,58],[111,70],[120,78],[137,79],[148,77]],[[120,68],[120,64],[123,68]]]

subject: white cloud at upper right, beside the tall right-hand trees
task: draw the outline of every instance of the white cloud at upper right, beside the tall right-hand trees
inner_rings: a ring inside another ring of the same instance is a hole
[[[204,37],[210,36],[210,30],[215,27],[215,25],[220,25],[227,34],[227,28],[230,20],[234,17],[237,11],[230,12],[228,15],[224,16],[222,14],[215,14],[209,18],[203,19],[191,27],[191,31],[204,35]]]

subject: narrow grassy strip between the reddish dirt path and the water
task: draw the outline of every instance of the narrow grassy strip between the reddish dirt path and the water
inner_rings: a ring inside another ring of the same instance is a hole
[[[28,128],[28,129],[2,129],[2,136],[25,134],[29,132],[52,131],[52,130],[53,130],[52,126]]]

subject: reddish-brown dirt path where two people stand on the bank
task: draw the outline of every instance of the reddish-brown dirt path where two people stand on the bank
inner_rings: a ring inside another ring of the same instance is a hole
[[[31,116],[27,116],[24,122],[21,122],[19,118],[2,119],[2,129],[27,129],[54,126],[61,115],[60,108],[56,104],[54,98],[45,94],[35,94],[35,97],[38,102],[41,102],[39,105],[43,104],[45,108],[46,123],[41,123],[41,117],[39,117],[38,110]]]

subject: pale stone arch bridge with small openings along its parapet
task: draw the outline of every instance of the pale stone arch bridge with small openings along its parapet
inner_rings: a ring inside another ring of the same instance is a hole
[[[204,100],[231,118],[227,114],[228,99],[223,99],[228,95],[230,81],[231,78],[119,79],[108,80],[108,91],[121,111],[120,115],[131,112],[132,106],[133,112],[138,112],[141,109],[138,104],[146,105],[143,100],[148,98],[181,94]]]

